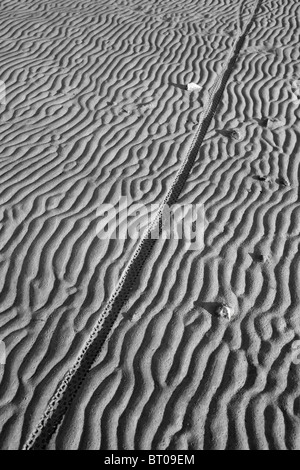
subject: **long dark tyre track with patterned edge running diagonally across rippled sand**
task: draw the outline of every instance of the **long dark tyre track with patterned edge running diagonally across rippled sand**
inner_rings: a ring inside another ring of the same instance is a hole
[[[96,322],[73,367],[67,372],[61,384],[58,386],[57,391],[51,398],[38,425],[30,435],[28,441],[23,446],[23,450],[37,450],[46,448],[51,439],[51,436],[55,433],[57,427],[62,421],[73,399],[75,398],[79,388],[84,382],[93,362],[98,356],[103,343],[110,333],[124,303],[135,287],[135,283],[138,279],[141,269],[156,242],[156,239],[153,239],[151,234],[157,232],[157,230],[159,233],[161,233],[164,208],[167,205],[171,206],[177,201],[183,186],[186,183],[211,121],[217,111],[217,107],[220,103],[229,77],[233,71],[238,55],[261,7],[262,1],[263,0],[255,1],[252,15],[248,24],[246,25],[244,31],[241,32],[240,36],[236,39],[233,47],[228,53],[228,58],[225,61],[223,71],[213,85],[207,103],[204,107],[202,119],[195,133],[191,147],[176,174],[173,184],[171,185],[166,197],[160,205],[155,220],[151,225],[149,225],[143,238],[139,242],[135,253],[125,268],[119,283],[115,288],[115,291],[108,301],[101,318],[99,318]]]

